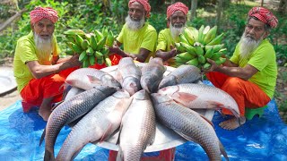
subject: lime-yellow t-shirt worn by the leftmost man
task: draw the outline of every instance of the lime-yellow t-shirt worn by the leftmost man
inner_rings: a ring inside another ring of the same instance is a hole
[[[57,40],[55,37],[53,38],[53,44],[54,48],[52,55],[57,56],[60,53],[60,50],[57,46]],[[19,92],[21,92],[21,90],[29,83],[29,81],[33,79],[33,76],[26,63],[30,61],[38,61],[39,64],[49,65],[51,64],[52,55],[45,59],[39,59],[32,31],[30,34],[19,38],[17,41],[13,60],[13,72]]]

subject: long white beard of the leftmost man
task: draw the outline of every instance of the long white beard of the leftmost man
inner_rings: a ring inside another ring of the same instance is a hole
[[[40,38],[39,35],[34,32],[34,41],[38,53],[38,58],[39,61],[43,64],[50,64],[50,55],[53,50],[52,39],[53,36],[48,39]],[[43,61],[49,61],[49,62],[43,62]]]

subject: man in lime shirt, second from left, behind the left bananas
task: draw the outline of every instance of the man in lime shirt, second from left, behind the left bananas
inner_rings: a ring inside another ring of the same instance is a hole
[[[148,0],[130,0],[126,24],[115,45],[109,47],[109,52],[132,57],[138,62],[148,62],[149,57],[154,55],[157,38],[156,30],[145,21],[145,18],[150,17],[150,12],[151,5]],[[119,48],[121,45],[124,46],[124,50]]]

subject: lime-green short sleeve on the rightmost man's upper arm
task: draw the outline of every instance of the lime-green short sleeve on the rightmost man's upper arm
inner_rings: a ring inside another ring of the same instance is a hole
[[[274,60],[273,55],[275,55],[273,47],[260,47],[248,61],[248,64],[257,68],[258,71],[262,71],[271,60]]]

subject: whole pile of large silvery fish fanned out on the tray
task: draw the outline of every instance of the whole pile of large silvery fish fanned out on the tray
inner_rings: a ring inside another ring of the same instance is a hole
[[[213,123],[193,109],[228,108],[239,117],[234,99],[221,89],[196,83],[201,79],[196,66],[166,71],[161,58],[139,67],[126,57],[114,76],[92,68],[72,72],[66,79],[72,89],[49,116],[40,140],[45,139],[44,160],[73,160],[86,144],[107,140],[117,131],[117,160],[140,160],[155,139],[156,120],[198,143],[210,160],[221,160],[221,155],[228,160]],[[55,157],[57,135],[65,125],[72,131]]]

